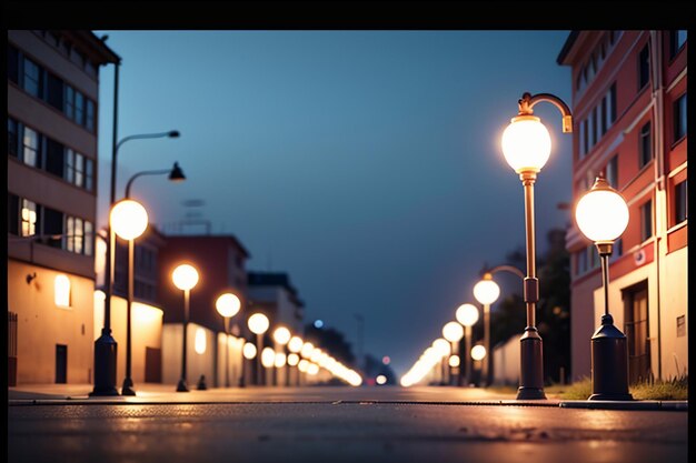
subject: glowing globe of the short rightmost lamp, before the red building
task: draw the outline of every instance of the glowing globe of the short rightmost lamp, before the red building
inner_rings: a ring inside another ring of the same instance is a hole
[[[575,208],[575,221],[585,236],[594,242],[612,242],[628,225],[628,205],[603,178],[580,198]]]

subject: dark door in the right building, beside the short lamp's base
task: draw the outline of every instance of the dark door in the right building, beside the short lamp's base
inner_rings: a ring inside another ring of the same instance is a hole
[[[650,378],[650,341],[648,325],[647,281],[624,290],[628,342],[628,381],[633,384]]]

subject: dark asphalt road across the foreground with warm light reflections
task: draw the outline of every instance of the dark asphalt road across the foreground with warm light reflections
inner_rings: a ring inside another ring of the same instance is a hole
[[[167,463],[687,462],[684,411],[461,402],[467,393],[485,392],[247,389],[170,394],[176,403],[163,403],[169,396],[163,393],[138,401],[76,397],[37,403],[12,400],[10,394],[8,457]]]

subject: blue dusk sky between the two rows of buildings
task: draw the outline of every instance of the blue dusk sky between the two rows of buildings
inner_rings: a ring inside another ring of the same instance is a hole
[[[122,58],[119,139],[181,132],[123,144],[117,195],[133,173],[178,161],[186,182],[133,183],[152,223],[167,233],[198,217],[236,235],[248,270],[289,273],[307,321],[357,348],[362,314],[365,351],[389,355],[399,375],[474,301],[484,263],[524,244],[523,188],[500,150],[517,100],[548,92],[571,104],[570,69],[556,63],[568,31],[96,33]],[[109,66],[100,227],[112,104]],[[570,201],[571,137],[553,105],[535,114],[554,143],[536,185],[540,254],[546,232],[569,221],[557,204]]]

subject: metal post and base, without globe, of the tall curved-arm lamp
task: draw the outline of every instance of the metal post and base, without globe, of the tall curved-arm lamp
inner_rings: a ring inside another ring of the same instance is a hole
[[[520,175],[525,190],[525,227],[527,233],[527,276],[524,295],[527,305],[527,326],[520,338],[520,384],[518,400],[546,399],[544,393],[544,358],[541,336],[535,325],[536,303],[539,300],[539,280],[536,278],[536,249],[534,227],[534,183],[536,172]],[[489,352],[486,352],[490,355]]]

